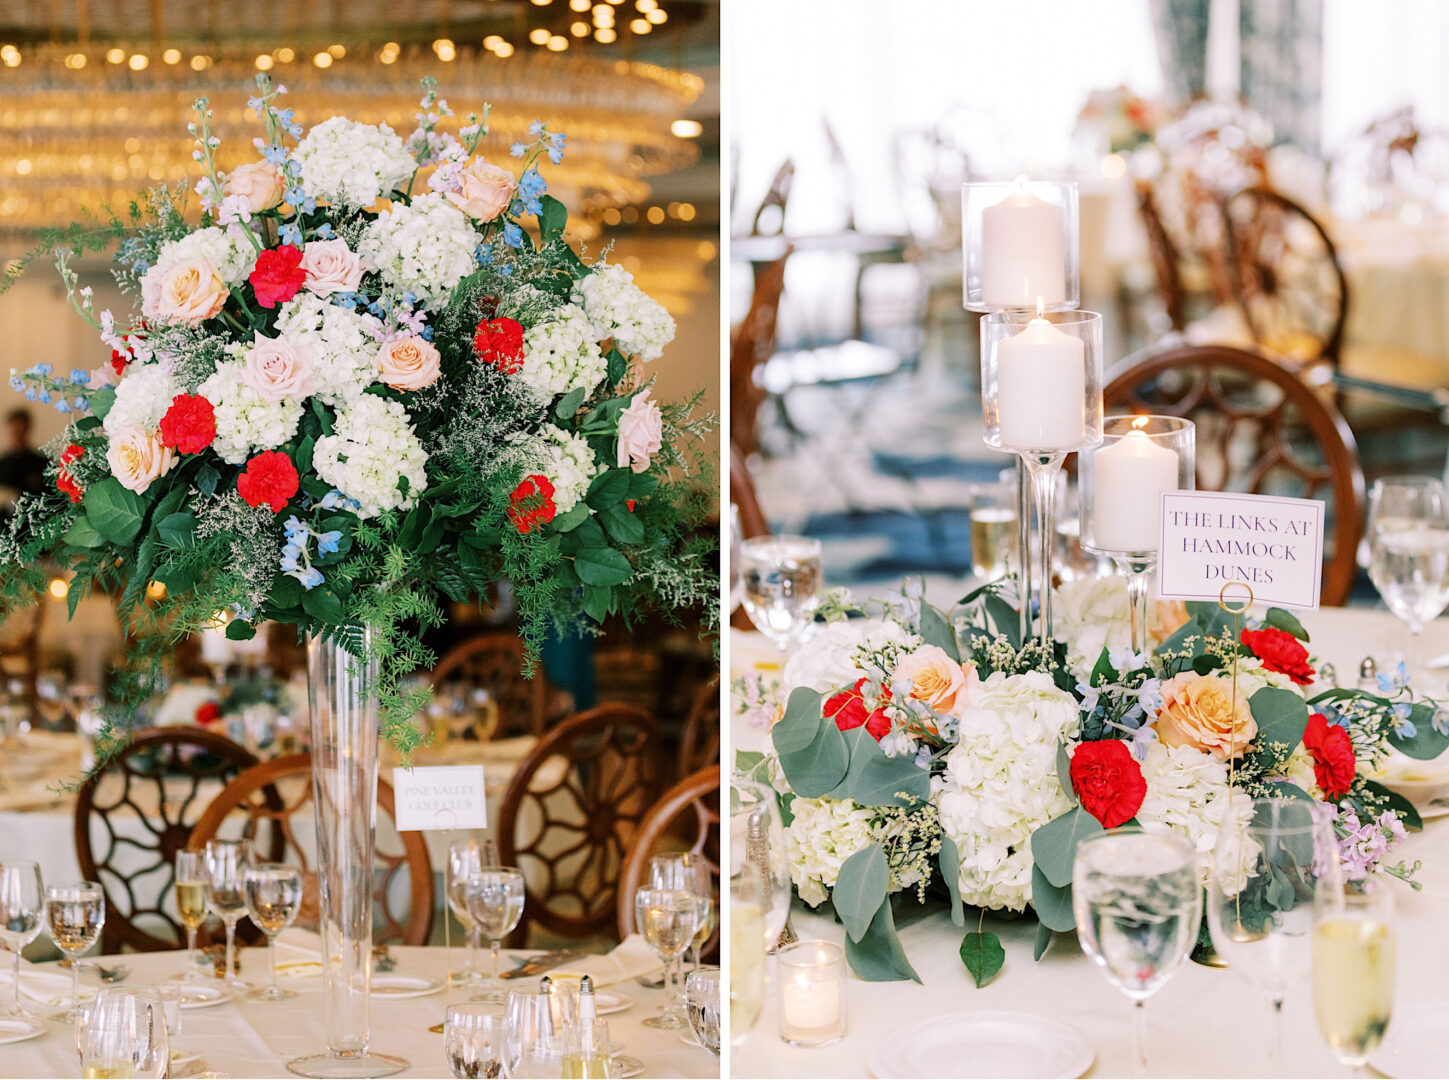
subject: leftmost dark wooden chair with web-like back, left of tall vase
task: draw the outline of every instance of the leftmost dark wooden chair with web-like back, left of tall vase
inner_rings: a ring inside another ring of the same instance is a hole
[[[225,735],[146,728],[85,778],[75,799],[75,857],[81,877],[106,893],[104,952],[185,942],[172,913],[175,854],[191,838],[204,787],[220,792],[255,764]]]

